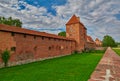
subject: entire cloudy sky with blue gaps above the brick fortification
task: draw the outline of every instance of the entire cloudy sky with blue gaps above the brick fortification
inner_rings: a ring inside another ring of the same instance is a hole
[[[0,0],[0,16],[19,18],[23,27],[57,34],[76,14],[88,35],[120,41],[120,0]]]

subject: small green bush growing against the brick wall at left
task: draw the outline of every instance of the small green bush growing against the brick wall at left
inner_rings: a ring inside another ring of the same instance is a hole
[[[3,51],[3,53],[1,54],[1,58],[4,62],[4,66],[7,67],[8,66],[8,60],[10,58],[10,51],[8,51],[8,50]]]

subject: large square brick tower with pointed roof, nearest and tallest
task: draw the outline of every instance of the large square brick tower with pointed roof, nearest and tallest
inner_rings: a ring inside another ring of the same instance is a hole
[[[82,51],[85,49],[86,44],[86,28],[80,22],[80,18],[73,15],[66,23],[66,37],[76,40],[76,50]]]

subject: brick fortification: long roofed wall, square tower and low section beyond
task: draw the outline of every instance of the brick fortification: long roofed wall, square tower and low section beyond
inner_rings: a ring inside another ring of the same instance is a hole
[[[11,51],[9,66],[70,55],[76,50],[95,48],[86,31],[75,15],[66,24],[67,37],[0,24],[0,52]]]

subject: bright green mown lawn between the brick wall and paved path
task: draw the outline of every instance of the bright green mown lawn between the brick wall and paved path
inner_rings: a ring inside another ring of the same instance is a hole
[[[2,68],[0,81],[87,81],[103,54],[103,52],[72,54]]]

